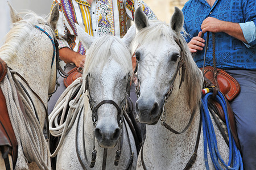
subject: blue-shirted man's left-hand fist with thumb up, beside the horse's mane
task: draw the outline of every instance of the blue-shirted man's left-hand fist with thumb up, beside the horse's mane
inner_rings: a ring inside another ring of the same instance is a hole
[[[196,53],[197,50],[203,50],[205,40],[201,38],[202,32],[198,33],[198,36],[193,37],[191,41],[188,42],[188,47],[191,53]]]

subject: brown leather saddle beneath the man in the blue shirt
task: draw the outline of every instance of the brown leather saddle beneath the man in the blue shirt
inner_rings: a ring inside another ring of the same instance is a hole
[[[228,123],[230,126],[230,130],[237,147],[241,150],[241,146],[238,141],[234,113],[229,104],[229,101],[234,100],[234,98],[240,93],[240,85],[236,79],[234,79],[231,75],[229,75],[228,73],[226,73],[225,70],[222,69],[217,69],[217,83],[214,81],[214,68],[212,66],[204,67],[204,86],[213,88],[218,87],[220,92],[224,94],[226,100],[226,107],[228,108]],[[211,99],[209,101],[217,111],[218,117],[220,117],[221,120],[226,123],[225,114],[221,105],[214,99]]]

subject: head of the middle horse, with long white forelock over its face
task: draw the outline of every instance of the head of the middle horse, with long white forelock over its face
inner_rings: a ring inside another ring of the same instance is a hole
[[[110,35],[92,37],[77,24],[76,28],[87,49],[82,80],[88,91],[95,137],[99,146],[114,147],[122,133],[122,112],[132,70],[128,46],[135,27],[123,39]]]

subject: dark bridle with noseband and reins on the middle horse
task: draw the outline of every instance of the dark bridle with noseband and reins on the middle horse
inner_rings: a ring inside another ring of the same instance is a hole
[[[90,77],[90,74],[86,75],[86,78],[85,78],[85,89],[84,89],[84,93],[87,91],[88,92],[88,99],[89,99],[89,105],[90,105],[90,110],[92,111],[92,121],[93,121],[93,151],[92,151],[92,160],[89,162],[88,161],[88,158],[87,158],[87,155],[86,155],[86,150],[85,150],[85,141],[84,141],[84,128],[82,128],[82,138],[83,138],[83,147],[84,147],[84,155],[85,155],[85,163],[84,164],[82,162],[82,159],[81,159],[81,156],[79,154],[79,151],[78,151],[78,147],[77,147],[77,132],[78,132],[78,127],[79,127],[79,122],[77,123],[77,130],[76,130],[76,154],[77,154],[77,158],[79,159],[79,162],[82,166],[83,169],[89,169],[89,168],[93,168],[95,163],[96,163],[96,157],[97,157],[97,151],[96,151],[96,148],[95,148],[95,129],[96,129],[96,124],[97,124],[97,120],[98,120],[98,115],[97,115],[97,111],[98,111],[98,108],[101,107],[101,105],[103,104],[112,104],[114,105],[115,108],[117,108],[117,111],[118,111],[118,126],[119,128],[122,130],[122,134],[120,135],[119,139],[118,139],[118,150],[115,152],[115,160],[114,160],[114,165],[117,166],[119,164],[119,160],[120,160],[120,156],[121,156],[121,148],[122,148],[122,142],[123,142],[123,138],[122,138],[122,135],[123,135],[123,114],[126,112],[126,100],[127,100],[127,95],[130,95],[130,75],[128,74],[126,77],[127,77],[127,84],[126,84],[126,95],[123,99],[123,103],[122,103],[122,107],[120,108],[118,106],[117,103],[115,103],[114,100],[102,100],[100,103],[98,103],[96,105],[96,107],[94,107],[94,100],[92,99],[92,95],[90,94],[90,87],[89,87],[89,77]],[[80,109],[80,112],[82,112],[82,109]],[[80,116],[81,114],[79,115],[79,120],[80,120]],[[84,127],[84,120],[82,121],[83,122],[83,126]],[[129,142],[130,143],[130,142]],[[131,146],[130,146],[130,151],[131,151]],[[103,163],[102,163],[102,169],[105,169],[106,168],[106,157],[107,157],[107,153],[108,153],[108,148],[104,148],[104,158],[103,158]],[[131,153],[133,153],[131,151]],[[131,154],[131,161],[129,161],[129,165],[128,167],[130,167],[130,164],[133,162],[133,154]],[[89,168],[88,168],[89,167]]]

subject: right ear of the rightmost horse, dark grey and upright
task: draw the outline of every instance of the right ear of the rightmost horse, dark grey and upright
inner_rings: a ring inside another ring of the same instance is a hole
[[[181,29],[183,28],[183,23],[184,23],[183,12],[178,7],[175,6],[174,15],[172,15],[171,22],[170,22],[172,30],[174,30],[176,34],[179,34]]]

